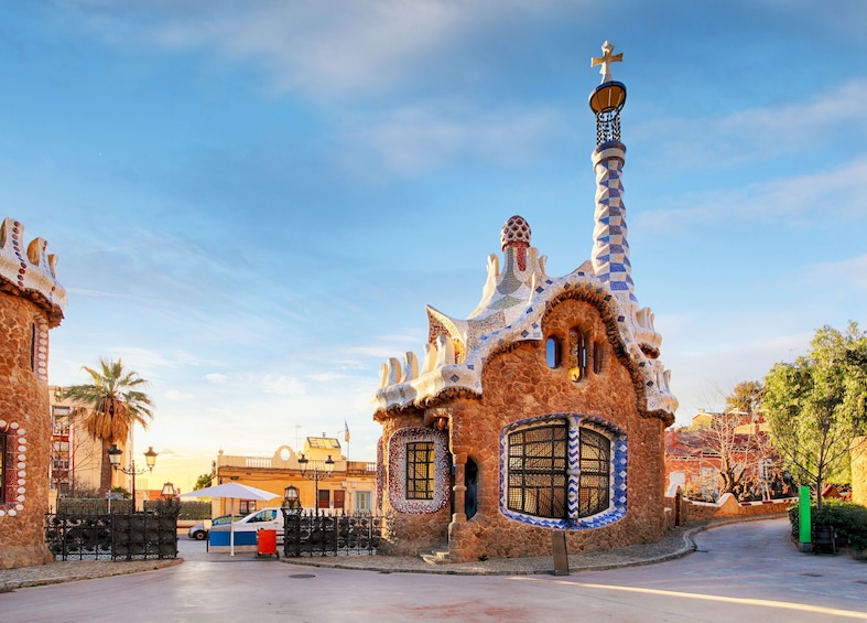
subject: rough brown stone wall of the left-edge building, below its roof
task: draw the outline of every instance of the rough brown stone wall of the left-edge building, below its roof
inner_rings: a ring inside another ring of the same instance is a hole
[[[50,562],[47,511],[51,415],[46,383],[34,372],[32,339],[47,351],[47,321],[34,302],[0,292],[0,432],[7,434],[7,503],[0,504],[0,568]],[[44,334],[39,327],[45,327]],[[43,355],[46,353],[43,353]],[[37,355],[37,353],[36,353]]]

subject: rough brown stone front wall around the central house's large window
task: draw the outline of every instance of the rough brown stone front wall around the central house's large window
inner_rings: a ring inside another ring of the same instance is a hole
[[[551,554],[550,529],[509,519],[499,509],[500,432],[512,422],[546,413],[596,416],[628,436],[626,516],[599,528],[567,530],[568,551],[596,551],[662,538],[664,425],[639,415],[633,379],[618,357],[617,346],[608,342],[607,327],[594,305],[574,299],[561,301],[546,314],[543,331],[562,335],[576,325],[588,344],[603,341],[598,375],[587,374],[575,383],[564,367],[548,366],[544,341],[522,342],[486,363],[480,399],[460,397],[436,407],[437,412],[451,411],[453,451],[466,452],[478,465],[478,513],[467,522],[458,517],[451,525],[453,560]]]

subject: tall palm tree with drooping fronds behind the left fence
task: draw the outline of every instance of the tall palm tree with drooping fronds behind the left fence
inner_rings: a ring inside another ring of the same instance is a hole
[[[108,448],[118,441],[126,442],[130,430],[139,423],[148,428],[153,419],[153,402],[141,391],[148,382],[134,370],[124,370],[118,359],[99,359],[100,370],[82,366],[93,377],[93,383],[73,385],[64,389],[63,398],[72,399],[72,417],[80,421],[95,440],[101,441],[99,491],[101,494],[111,488],[111,464]]]

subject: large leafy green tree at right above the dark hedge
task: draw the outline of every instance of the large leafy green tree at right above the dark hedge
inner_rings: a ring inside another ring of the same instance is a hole
[[[853,438],[867,429],[867,334],[850,322],[817,330],[805,357],[765,377],[765,419],[792,475],[813,486],[845,473]]]

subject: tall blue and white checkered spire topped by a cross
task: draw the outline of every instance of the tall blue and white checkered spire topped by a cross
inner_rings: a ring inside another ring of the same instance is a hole
[[[618,299],[637,303],[629,262],[626,206],[620,175],[626,161],[626,146],[620,142],[620,110],[626,104],[626,86],[611,79],[611,63],[621,62],[622,54],[611,54],[614,45],[605,42],[603,55],[590,60],[600,65],[603,82],[589,97],[596,115],[596,149],[593,169],[596,172],[596,212],[593,229],[593,269]]]

